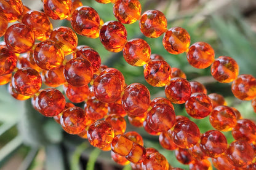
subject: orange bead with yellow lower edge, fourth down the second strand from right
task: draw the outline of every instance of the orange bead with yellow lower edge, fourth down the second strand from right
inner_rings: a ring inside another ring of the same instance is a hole
[[[151,48],[143,39],[131,39],[124,45],[122,53],[128,64],[143,66],[150,60]]]

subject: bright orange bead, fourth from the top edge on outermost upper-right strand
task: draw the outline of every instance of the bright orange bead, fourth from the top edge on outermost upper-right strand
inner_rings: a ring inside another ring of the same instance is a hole
[[[214,49],[206,42],[192,44],[186,54],[188,63],[198,69],[208,68],[214,62],[214,56]]]

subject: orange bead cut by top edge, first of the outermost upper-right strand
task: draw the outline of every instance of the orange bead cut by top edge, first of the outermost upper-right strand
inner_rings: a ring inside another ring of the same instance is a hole
[[[113,13],[118,21],[131,24],[140,19],[142,6],[138,0],[116,0]]]

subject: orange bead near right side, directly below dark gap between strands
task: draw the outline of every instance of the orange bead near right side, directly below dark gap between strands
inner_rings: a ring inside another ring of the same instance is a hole
[[[214,107],[209,120],[212,127],[219,131],[231,131],[236,126],[236,115],[228,106]]]

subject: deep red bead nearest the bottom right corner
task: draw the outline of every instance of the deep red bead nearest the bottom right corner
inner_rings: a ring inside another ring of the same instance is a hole
[[[244,140],[233,141],[228,149],[226,149],[228,160],[236,167],[249,165],[252,163],[254,155],[254,149],[249,142]]]

